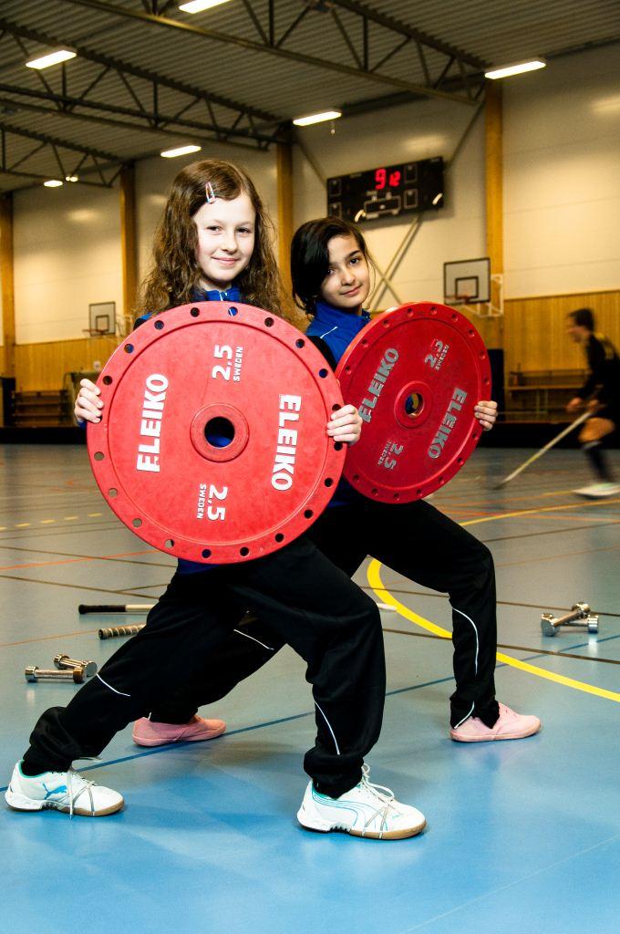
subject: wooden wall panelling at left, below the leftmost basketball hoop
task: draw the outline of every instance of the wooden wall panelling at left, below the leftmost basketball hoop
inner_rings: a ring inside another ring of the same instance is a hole
[[[94,361],[100,361],[103,366],[117,343],[116,337],[85,337],[75,341],[18,344],[15,347],[17,389],[62,389],[65,373],[92,370]]]

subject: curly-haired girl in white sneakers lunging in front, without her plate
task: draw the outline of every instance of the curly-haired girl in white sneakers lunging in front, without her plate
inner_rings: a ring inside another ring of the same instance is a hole
[[[155,267],[140,310],[165,314],[184,301],[221,299],[264,304],[278,314],[279,277],[261,200],[232,163],[204,161],[175,179],[156,237]],[[101,400],[83,386],[78,417],[96,422]],[[327,432],[355,443],[360,419],[351,405],[335,412]],[[250,503],[248,502],[248,507]],[[304,759],[310,775],[300,820],[309,828],[344,829],[379,839],[410,837],[425,824],[416,808],[368,780],[364,756],[376,742],[385,697],[381,622],[374,602],[326,559],[307,535],[279,551],[239,564],[179,561],[147,625],[124,644],[64,707],[41,715],[17,763],[6,799],[17,811],[53,808],[70,814],[113,814],[120,794],[72,769],[98,756],[118,730],[148,715],[230,638],[240,607],[268,618],[282,643],[307,663],[317,739]]]

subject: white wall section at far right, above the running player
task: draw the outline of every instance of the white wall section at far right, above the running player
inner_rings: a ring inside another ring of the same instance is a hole
[[[509,298],[620,287],[620,46],[504,82]]]

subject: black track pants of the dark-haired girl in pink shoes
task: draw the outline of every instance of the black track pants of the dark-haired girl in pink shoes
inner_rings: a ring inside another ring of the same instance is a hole
[[[320,551],[352,576],[367,555],[412,582],[447,593],[452,604],[454,673],[450,723],[469,715],[487,726],[498,718],[495,571],[490,551],[429,502],[392,505],[362,500],[327,509],[310,530]],[[190,681],[154,704],[151,719],[186,723],[198,707],[218,701],[261,668],[283,645],[268,616],[237,624]]]

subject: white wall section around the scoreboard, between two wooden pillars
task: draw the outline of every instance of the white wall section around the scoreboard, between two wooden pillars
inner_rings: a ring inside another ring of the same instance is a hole
[[[370,169],[382,163],[444,156],[451,159],[474,109],[447,101],[420,101],[382,112],[318,124],[299,131],[325,177]],[[295,224],[323,217],[326,195],[308,160],[295,148]],[[484,115],[480,115],[445,177],[445,206],[428,212],[395,276],[402,302],[441,301],[444,262],[486,255]],[[385,269],[412,219],[404,216],[361,225],[379,266]],[[381,307],[395,304],[386,293]]]

